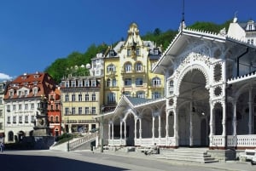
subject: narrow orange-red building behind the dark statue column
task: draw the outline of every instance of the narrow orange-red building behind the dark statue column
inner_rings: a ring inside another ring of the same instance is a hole
[[[50,133],[53,136],[61,135],[61,91],[55,88],[49,93],[48,120]]]

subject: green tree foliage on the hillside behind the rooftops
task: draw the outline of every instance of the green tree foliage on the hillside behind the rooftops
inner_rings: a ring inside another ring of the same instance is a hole
[[[218,33],[223,28],[226,28],[226,30],[228,30],[230,22],[231,20],[228,20],[224,22],[224,24],[222,25],[214,24],[212,22],[195,22],[194,25],[188,27],[195,30],[212,31]],[[156,46],[161,47],[162,50],[165,50],[168,47],[168,45],[172,42],[172,39],[176,36],[176,34],[177,31],[161,31],[160,28],[155,28],[154,31],[148,31],[145,35],[143,35],[142,39],[153,41],[156,44]],[[71,54],[68,54],[65,58],[59,58],[55,60],[50,66],[46,67],[45,72],[48,72],[49,75],[53,77],[57,83],[60,83],[61,78],[63,76],[67,76],[67,74],[70,73],[74,74],[74,70],[70,70],[71,67],[82,65],[85,66],[86,64],[90,64],[91,58],[94,58],[98,53],[104,53],[107,50],[107,48],[108,45],[106,43],[102,43],[100,45],[92,43],[84,53],[73,52]],[[69,70],[67,68],[69,68]],[[75,74],[81,75],[86,71],[86,68],[79,69],[75,71]]]

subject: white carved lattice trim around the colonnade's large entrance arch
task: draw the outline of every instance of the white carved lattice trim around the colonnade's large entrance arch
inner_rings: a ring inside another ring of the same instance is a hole
[[[174,88],[175,89],[175,94],[179,94],[180,91],[180,86],[181,83],[183,81],[183,77],[185,77],[185,75],[192,70],[199,70],[202,72],[202,74],[204,75],[204,77],[206,78],[206,87],[208,87],[209,85],[209,76],[208,76],[208,72],[206,70],[206,68],[204,66],[201,66],[199,64],[193,64],[193,67],[191,67],[191,65],[188,65],[186,67],[184,67],[183,72],[180,74],[180,76],[177,78],[177,87]]]

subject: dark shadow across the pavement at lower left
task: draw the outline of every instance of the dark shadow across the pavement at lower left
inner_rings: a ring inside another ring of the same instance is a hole
[[[83,162],[62,157],[23,156],[0,154],[0,165],[3,171],[121,171],[126,168],[116,168],[92,162]]]

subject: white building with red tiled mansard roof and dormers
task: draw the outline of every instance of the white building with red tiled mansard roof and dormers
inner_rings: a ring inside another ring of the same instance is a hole
[[[20,75],[11,81],[4,93],[5,143],[22,141],[33,134],[40,100],[56,87],[48,73]]]

